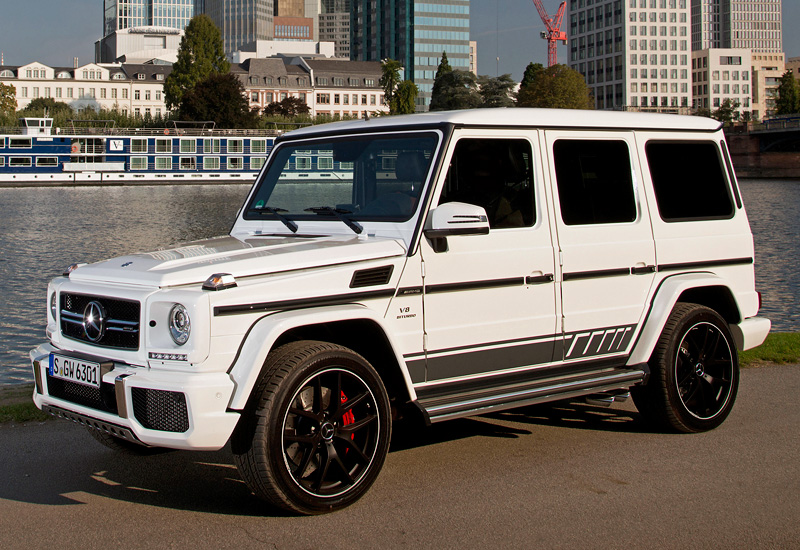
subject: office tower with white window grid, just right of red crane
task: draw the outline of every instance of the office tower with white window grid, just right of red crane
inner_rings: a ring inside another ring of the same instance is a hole
[[[689,14],[688,0],[570,0],[569,66],[598,109],[688,110]]]

